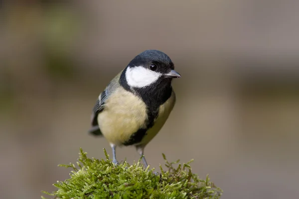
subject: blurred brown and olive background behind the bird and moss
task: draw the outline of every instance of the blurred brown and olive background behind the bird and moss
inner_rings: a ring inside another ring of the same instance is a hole
[[[137,54],[165,52],[177,103],[146,147],[181,159],[223,199],[299,195],[299,1],[1,0],[0,193],[52,192],[75,163],[111,154],[87,134],[98,95]],[[119,160],[139,159],[118,148]]]

